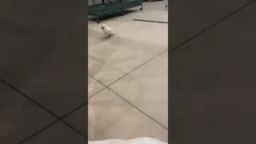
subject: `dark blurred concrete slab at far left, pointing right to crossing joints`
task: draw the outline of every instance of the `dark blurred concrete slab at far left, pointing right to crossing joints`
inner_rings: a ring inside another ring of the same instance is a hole
[[[56,118],[0,82],[0,143],[17,144]]]

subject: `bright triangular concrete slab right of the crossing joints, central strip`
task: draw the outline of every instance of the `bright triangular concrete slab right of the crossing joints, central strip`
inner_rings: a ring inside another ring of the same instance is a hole
[[[138,109],[168,128],[168,52],[110,86]]]

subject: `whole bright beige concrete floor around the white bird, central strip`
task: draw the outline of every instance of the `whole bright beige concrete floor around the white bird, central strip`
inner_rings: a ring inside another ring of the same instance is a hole
[[[88,24],[89,140],[153,137],[168,142],[168,22],[166,1],[145,2]]]

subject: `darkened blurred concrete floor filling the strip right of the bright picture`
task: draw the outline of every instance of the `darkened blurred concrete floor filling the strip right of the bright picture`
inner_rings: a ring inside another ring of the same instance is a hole
[[[169,143],[255,143],[255,2],[170,1]]]

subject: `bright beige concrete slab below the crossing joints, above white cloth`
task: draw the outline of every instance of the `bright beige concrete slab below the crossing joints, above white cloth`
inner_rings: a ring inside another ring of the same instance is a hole
[[[105,89],[89,99],[89,140],[153,137],[168,141],[168,130]]]

